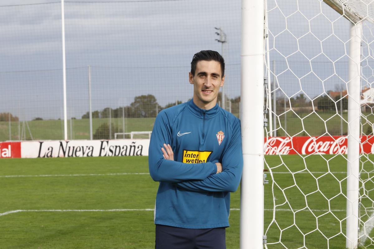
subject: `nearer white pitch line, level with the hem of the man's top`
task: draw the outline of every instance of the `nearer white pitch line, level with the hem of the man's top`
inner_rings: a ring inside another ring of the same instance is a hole
[[[0,216],[14,214],[19,212],[125,212],[125,211],[154,211],[152,208],[145,209],[18,209],[0,213]],[[240,211],[240,208],[230,208],[230,211]],[[273,209],[264,209],[264,211],[273,211]],[[276,211],[291,211],[291,209],[276,209]],[[293,209],[298,211],[298,209]],[[309,209],[303,209],[302,211],[309,211]],[[318,210],[312,209],[312,211],[327,212],[329,210]],[[346,210],[333,209],[332,212],[345,212]]]

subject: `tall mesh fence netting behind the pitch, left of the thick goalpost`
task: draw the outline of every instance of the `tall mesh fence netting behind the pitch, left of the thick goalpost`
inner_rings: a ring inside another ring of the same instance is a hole
[[[63,139],[61,3],[22,3],[0,6],[0,140]],[[64,9],[68,139],[90,138],[89,78],[94,139],[151,131],[157,112],[192,97],[190,62],[207,49],[223,53],[226,109],[239,116],[240,1],[65,1]]]

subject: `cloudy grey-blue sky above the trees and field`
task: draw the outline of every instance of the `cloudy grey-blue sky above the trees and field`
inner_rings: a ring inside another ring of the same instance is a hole
[[[82,2],[65,3],[68,116],[88,111],[88,65],[94,110],[129,105],[141,94],[153,94],[160,105],[186,101],[192,96],[193,54],[221,52],[214,27],[227,34],[226,94],[240,95],[239,0]],[[18,4],[0,7],[0,112],[28,120],[61,118],[61,4],[2,0],[0,5]],[[270,0],[268,9],[278,95],[282,89],[289,97],[313,98],[344,84],[345,18],[319,0]]]

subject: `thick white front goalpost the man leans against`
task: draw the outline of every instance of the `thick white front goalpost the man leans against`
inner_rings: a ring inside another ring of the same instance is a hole
[[[241,108],[243,175],[240,248],[262,249],[264,231],[264,0],[242,0]]]

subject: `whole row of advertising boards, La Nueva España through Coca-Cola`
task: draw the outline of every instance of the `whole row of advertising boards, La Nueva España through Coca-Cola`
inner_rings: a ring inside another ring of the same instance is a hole
[[[0,142],[0,158],[148,156],[149,139]],[[265,155],[347,154],[347,136],[269,137]],[[374,136],[360,137],[360,152],[374,154]]]

